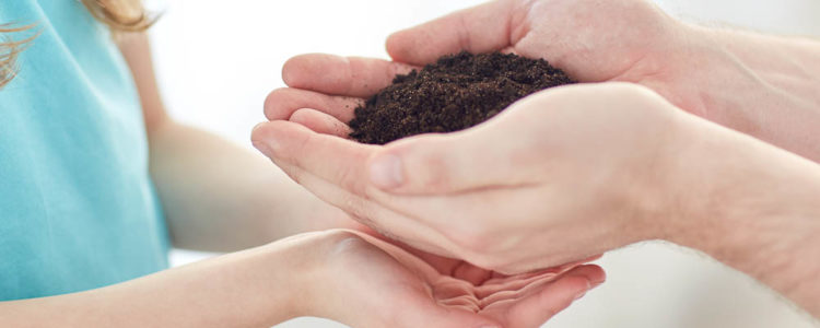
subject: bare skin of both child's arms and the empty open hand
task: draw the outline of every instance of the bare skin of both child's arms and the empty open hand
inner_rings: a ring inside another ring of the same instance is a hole
[[[145,35],[125,35],[120,49],[143,104],[151,174],[174,245],[257,248],[98,290],[0,302],[0,326],[270,327],[309,315],[353,327],[535,327],[605,280],[597,266],[579,263],[504,276],[372,231],[265,245],[306,231],[368,230],[263,156],[173,121]]]

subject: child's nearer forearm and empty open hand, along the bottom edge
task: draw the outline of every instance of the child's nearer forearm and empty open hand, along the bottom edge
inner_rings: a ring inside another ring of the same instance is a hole
[[[10,327],[270,327],[306,315],[352,327],[536,327],[604,279],[600,268],[577,266],[473,284],[337,230],[99,290],[0,303],[0,318]]]

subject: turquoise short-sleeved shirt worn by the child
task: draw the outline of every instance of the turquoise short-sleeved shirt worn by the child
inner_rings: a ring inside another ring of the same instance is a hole
[[[3,22],[42,34],[0,90],[0,301],[165,269],[139,97],[109,31],[75,0],[4,0]]]

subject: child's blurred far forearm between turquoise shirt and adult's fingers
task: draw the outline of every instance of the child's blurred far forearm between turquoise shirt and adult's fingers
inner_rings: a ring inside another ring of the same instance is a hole
[[[151,175],[177,247],[231,251],[353,226],[263,156],[168,120],[152,131]]]

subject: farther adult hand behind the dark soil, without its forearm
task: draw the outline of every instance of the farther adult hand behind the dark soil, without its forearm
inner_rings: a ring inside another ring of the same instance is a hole
[[[398,73],[468,50],[543,58],[581,82],[620,81],[652,89],[676,106],[718,122],[733,114],[706,110],[701,85],[710,67],[728,67],[700,30],[645,0],[497,0],[401,31],[387,40],[394,61],[303,55],[285,63],[289,89],[272,92],[265,113],[308,127],[347,131],[364,97]],[[717,62],[721,61],[721,62]],[[714,69],[711,69],[714,71]],[[300,110],[316,109],[317,113]]]

